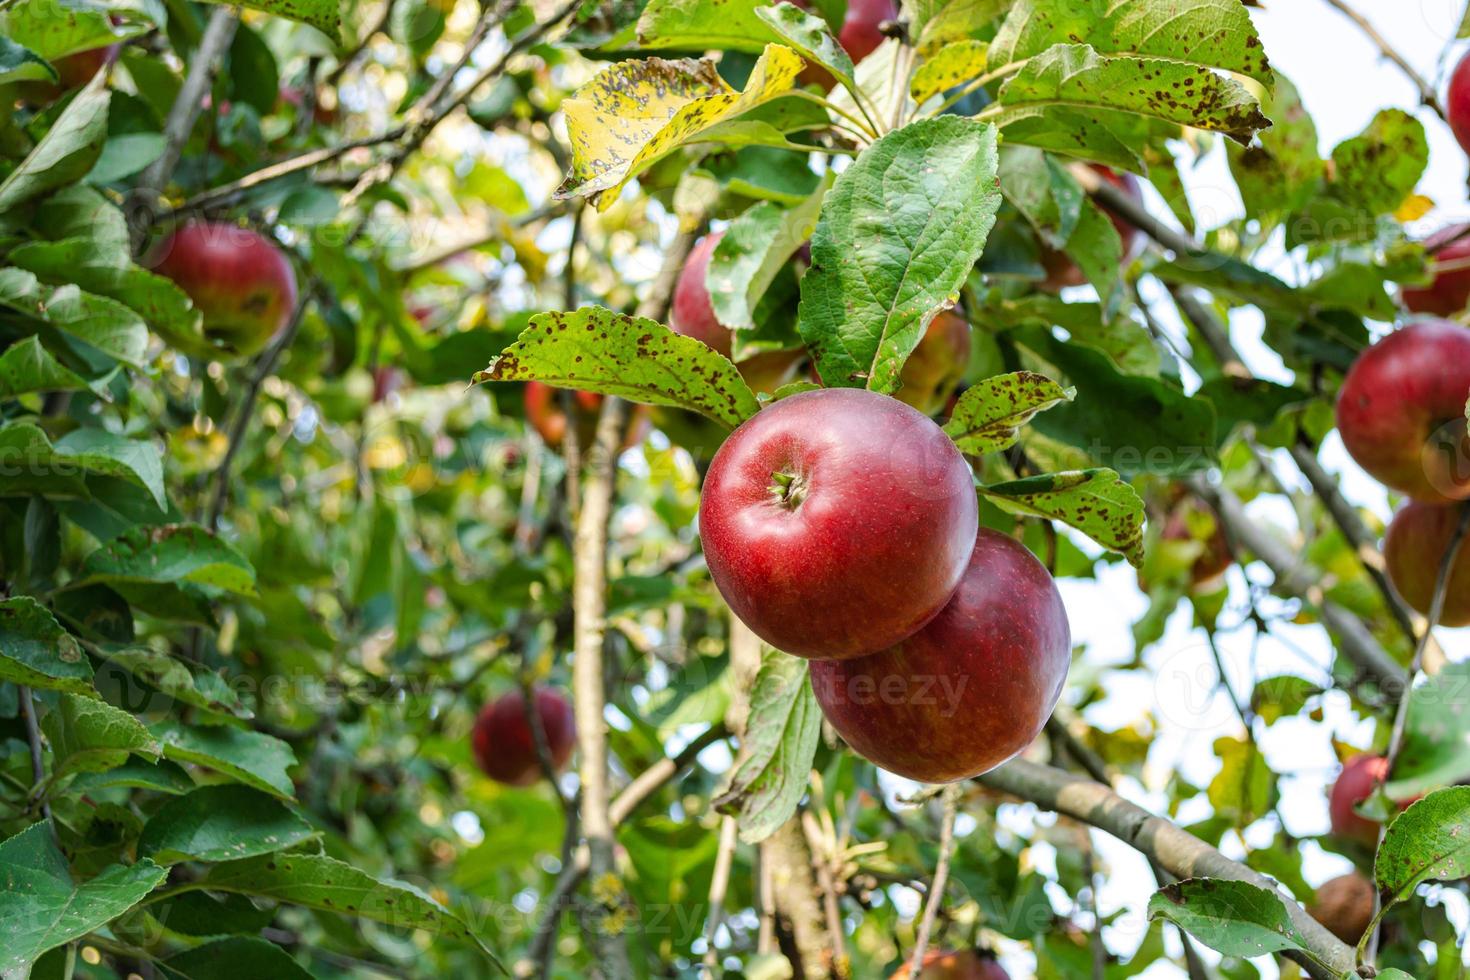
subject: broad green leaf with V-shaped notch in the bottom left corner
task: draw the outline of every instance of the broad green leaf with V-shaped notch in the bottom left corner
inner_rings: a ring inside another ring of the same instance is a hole
[[[0,976],[24,977],[37,956],[106,926],[168,876],[153,861],[113,864],[75,884],[50,826],[31,824],[0,843]]]

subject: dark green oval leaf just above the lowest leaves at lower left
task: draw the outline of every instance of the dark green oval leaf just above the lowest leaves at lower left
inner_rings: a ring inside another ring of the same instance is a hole
[[[148,817],[138,855],[159,864],[235,861],[284,851],[316,836],[279,799],[248,786],[200,786]]]

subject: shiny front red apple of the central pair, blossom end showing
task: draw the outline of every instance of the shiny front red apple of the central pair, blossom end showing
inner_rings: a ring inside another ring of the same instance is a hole
[[[778,475],[792,478],[786,498]],[[858,388],[760,410],[714,454],[700,497],[725,601],[767,644],[807,658],[863,657],[938,616],[978,526],[954,442]]]

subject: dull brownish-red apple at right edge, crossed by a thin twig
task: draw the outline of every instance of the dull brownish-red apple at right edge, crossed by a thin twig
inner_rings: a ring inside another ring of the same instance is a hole
[[[1470,504],[1461,504],[1466,507]],[[1439,564],[1460,525],[1461,507],[1410,502],[1389,522],[1383,538],[1388,577],[1404,601],[1429,616],[1439,579]],[[1449,569],[1445,608],[1439,626],[1470,626],[1470,544],[1460,547]]]

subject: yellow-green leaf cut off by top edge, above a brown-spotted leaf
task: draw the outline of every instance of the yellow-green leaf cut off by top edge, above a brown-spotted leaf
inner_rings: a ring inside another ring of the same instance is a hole
[[[991,71],[1076,38],[1102,54],[1152,54],[1274,84],[1239,0],[1017,0],[991,44]]]

